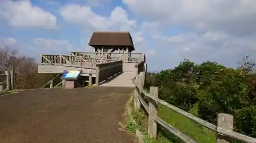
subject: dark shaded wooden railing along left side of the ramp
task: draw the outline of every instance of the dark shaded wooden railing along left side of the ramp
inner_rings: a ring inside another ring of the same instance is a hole
[[[96,83],[99,85],[102,81],[114,77],[115,74],[122,72],[123,62],[117,61],[112,63],[104,63],[96,65]]]

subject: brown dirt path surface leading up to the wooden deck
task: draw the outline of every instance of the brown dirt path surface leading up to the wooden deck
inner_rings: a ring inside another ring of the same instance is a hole
[[[137,142],[119,131],[133,88],[28,90],[0,97],[0,142]]]

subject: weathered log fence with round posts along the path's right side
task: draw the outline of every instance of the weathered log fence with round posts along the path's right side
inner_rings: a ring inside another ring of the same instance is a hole
[[[217,143],[230,143],[232,142],[232,139],[237,139],[246,143],[256,143],[256,139],[233,132],[233,116],[225,114],[225,113],[219,113],[217,120],[217,126],[211,123],[208,123],[207,121],[204,121],[194,115],[191,115],[190,113],[175,107],[174,105],[171,105],[161,99],[158,98],[158,87],[150,87],[150,93],[147,93],[143,89],[144,80],[145,80],[145,72],[141,72],[139,75],[137,75],[136,78],[132,79],[135,84],[135,96],[134,96],[134,106],[135,109],[140,109],[141,105],[145,108],[145,110],[148,112],[148,136],[151,138],[156,138],[157,136],[157,125],[161,125],[171,133],[173,133],[175,136],[179,137],[184,142],[196,142],[195,140],[191,139],[187,135],[183,134],[179,130],[175,129],[173,126],[169,125],[165,121],[163,121],[161,118],[157,116],[157,110],[158,110],[158,104],[161,104],[171,110],[174,110],[175,112],[179,113],[180,115],[196,122],[199,125],[202,125],[211,131],[214,131],[216,133],[216,142]],[[143,100],[143,97],[146,97],[149,99],[149,105],[146,104],[146,102]]]

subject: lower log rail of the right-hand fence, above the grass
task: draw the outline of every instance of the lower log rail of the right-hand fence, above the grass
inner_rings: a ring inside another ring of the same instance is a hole
[[[171,133],[173,133],[175,136],[179,137],[181,140],[183,140],[186,143],[197,143],[195,140],[191,139],[190,137],[188,137],[187,135],[183,134],[182,132],[180,132],[179,130],[177,130],[176,128],[174,128],[173,126],[169,125],[168,123],[164,122],[162,119],[160,119],[157,116],[154,116],[153,119],[160,124],[161,126],[163,126],[165,129],[167,129],[168,131],[170,131]]]

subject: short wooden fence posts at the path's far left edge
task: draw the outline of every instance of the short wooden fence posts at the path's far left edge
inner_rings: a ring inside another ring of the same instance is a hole
[[[4,81],[0,82],[0,92],[14,90],[14,71],[5,71],[5,74],[0,74],[4,77]]]

